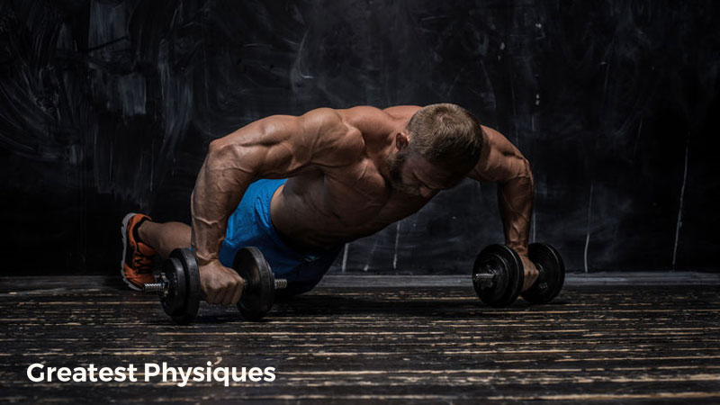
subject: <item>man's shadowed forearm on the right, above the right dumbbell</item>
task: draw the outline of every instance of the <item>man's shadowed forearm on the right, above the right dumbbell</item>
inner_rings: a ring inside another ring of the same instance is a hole
[[[526,170],[521,175],[498,184],[498,204],[505,231],[505,243],[519,254],[527,254],[535,186],[527,160],[525,166]]]

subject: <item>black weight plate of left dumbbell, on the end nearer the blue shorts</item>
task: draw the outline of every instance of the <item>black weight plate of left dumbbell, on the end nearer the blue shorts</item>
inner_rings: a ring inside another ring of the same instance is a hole
[[[245,280],[238,310],[246,320],[262,320],[275,302],[275,275],[257,247],[243,247],[232,267]]]

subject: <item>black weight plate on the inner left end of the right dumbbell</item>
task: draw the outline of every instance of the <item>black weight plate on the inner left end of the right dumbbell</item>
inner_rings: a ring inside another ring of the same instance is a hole
[[[473,275],[493,274],[491,284],[473,280],[475,293],[491,307],[505,307],[518,299],[523,285],[523,264],[518,253],[505,245],[485,247],[475,259]]]

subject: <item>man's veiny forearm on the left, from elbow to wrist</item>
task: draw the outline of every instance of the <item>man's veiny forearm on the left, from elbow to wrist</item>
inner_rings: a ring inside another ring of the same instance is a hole
[[[238,206],[252,174],[238,167],[232,150],[212,148],[205,157],[191,197],[191,244],[198,265],[220,257],[230,214]]]

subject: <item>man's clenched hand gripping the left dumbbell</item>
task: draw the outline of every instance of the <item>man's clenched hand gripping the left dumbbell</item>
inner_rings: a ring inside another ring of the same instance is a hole
[[[218,260],[200,266],[199,270],[200,289],[206,302],[234,305],[240,301],[245,282],[235,270],[222,266]]]

